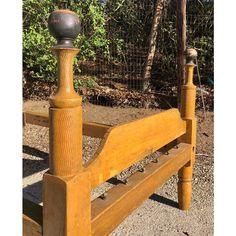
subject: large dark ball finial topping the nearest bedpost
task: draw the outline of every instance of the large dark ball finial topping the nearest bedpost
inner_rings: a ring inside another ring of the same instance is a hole
[[[48,18],[48,29],[57,39],[55,47],[73,48],[73,40],[81,32],[81,22],[73,11],[55,10]]]

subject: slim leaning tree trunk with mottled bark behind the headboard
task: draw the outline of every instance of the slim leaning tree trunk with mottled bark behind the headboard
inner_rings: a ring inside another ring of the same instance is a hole
[[[153,58],[156,51],[157,29],[161,20],[165,2],[166,0],[156,0],[155,11],[154,11],[154,16],[152,20],[152,28],[149,35],[148,54],[147,54],[146,64],[143,71],[143,81],[144,81],[143,90],[146,90],[149,86]]]

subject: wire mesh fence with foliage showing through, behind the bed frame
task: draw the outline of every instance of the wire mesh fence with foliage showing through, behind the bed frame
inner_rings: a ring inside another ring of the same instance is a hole
[[[176,106],[177,0],[163,2],[150,83],[144,90],[143,73],[156,0],[24,1],[23,76],[27,77],[24,97],[41,98],[43,94],[48,97],[54,91],[56,60],[49,50],[54,42],[47,30],[47,17],[55,8],[66,7],[76,11],[82,20],[82,34],[75,43],[82,53],[75,64],[74,86],[84,100],[106,106]],[[207,108],[212,109],[214,2],[186,2],[187,46],[198,50],[204,96],[209,101]],[[47,82],[51,84],[45,85]],[[195,84],[199,85],[197,76]]]

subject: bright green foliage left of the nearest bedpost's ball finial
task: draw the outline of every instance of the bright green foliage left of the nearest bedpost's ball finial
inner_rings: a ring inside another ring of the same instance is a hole
[[[47,18],[52,11],[49,0],[23,1],[23,68],[33,78],[51,80],[56,60],[50,53],[55,40],[47,30]]]

